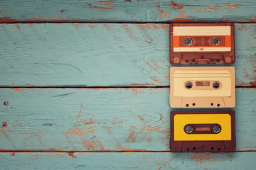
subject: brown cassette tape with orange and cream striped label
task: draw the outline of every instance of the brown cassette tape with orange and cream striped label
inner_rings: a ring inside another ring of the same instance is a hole
[[[171,64],[235,63],[234,23],[171,23]]]

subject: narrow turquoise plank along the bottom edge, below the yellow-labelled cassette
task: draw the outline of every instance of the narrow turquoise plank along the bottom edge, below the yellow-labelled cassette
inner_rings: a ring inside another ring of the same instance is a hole
[[[255,152],[0,153],[1,169],[255,169]]]

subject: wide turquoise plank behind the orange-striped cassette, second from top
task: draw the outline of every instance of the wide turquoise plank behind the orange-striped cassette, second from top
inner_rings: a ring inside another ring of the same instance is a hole
[[[256,24],[235,24],[236,84],[255,86]],[[169,25],[1,24],[0,86],[169,86]]]

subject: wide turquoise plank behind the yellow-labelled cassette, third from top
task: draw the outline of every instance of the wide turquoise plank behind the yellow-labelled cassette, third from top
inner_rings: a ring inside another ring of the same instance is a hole
[[[170,150],[169,88],[0,89],[0,94],[1,150]],[[255,150],[256,90],[236,89],[236,96],[237,150]]]

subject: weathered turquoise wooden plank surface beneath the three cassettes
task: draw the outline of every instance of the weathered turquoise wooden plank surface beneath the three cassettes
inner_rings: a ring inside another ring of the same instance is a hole
[[[255,7],[1,1],[0,169],[255,169]],[[236,152],[169,149],[173,21],[235,22]]]

